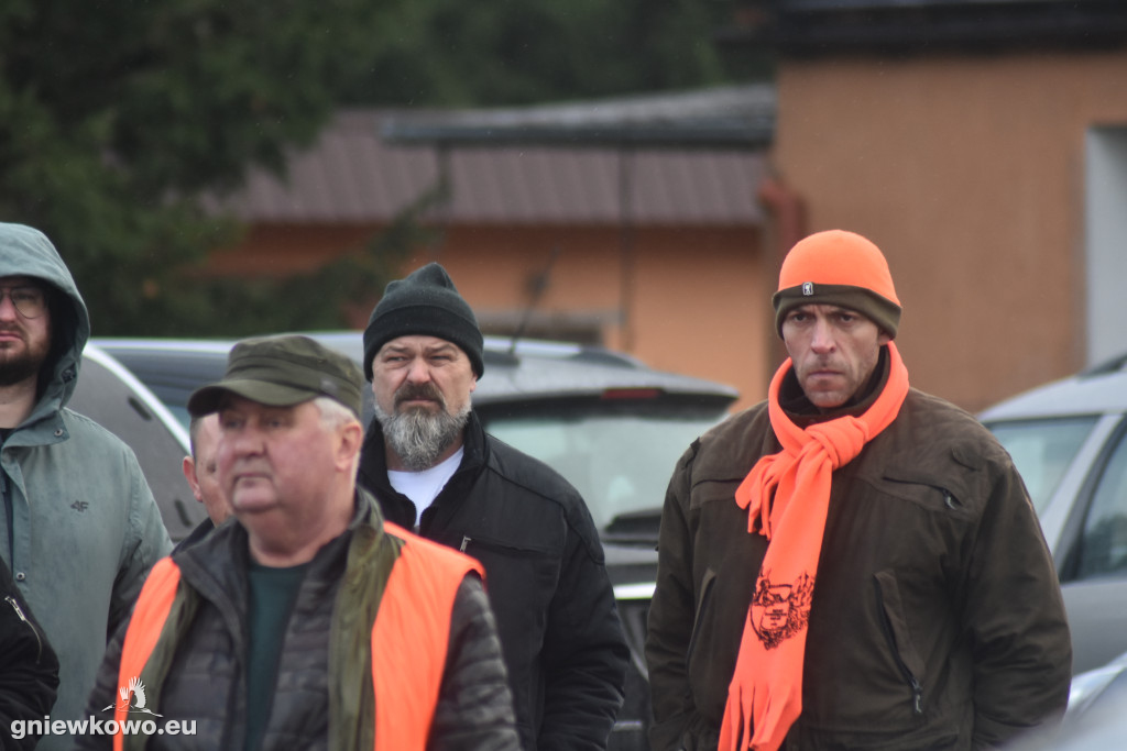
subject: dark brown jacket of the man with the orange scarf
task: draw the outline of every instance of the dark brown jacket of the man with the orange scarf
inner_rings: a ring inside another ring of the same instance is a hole
[[[766,540],[736,486],[780,449],[766,405],[678,462],[646,656],[655,750],[716,749]],[[1056,572],[1005,450],[916,390],[834,473],[810,610],[801,749],[978,749],[1058,717],[1072,645]]]

